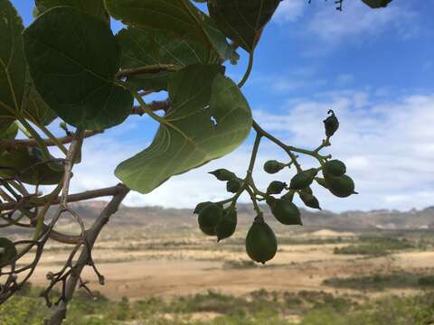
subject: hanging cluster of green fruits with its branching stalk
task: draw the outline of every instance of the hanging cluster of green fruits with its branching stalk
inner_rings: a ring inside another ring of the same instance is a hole
[[[218,169],[210,172],[219,181],[226,181],[226,190],[234,195],[228,200],[219,202],[201,202],[194,209],[193,213],[198,215],[199,228],[205,235],[217,237],[217,241],[231,237],[237,228],[237,209],[236,203],[241,193],[246,191],[250,195],[250,200],[256,211],[256,217],[247,233],[246,252],[250,258],[262,264],[272,259],[278,251],[278,241],[264,219],[259,206],[259,201],[265,201],[274,216],[283,225],[303,225],[300,210],[293,202],[294,196],[298,195],[300,200],[311,209],[321,209],[319,201],[314,195],[311,186],[315,182],[333,195],[339,198],[346,198],[354,191],[354,181],[346,174],[346,166],[340,160],[331,160],[332,156],[322,155],[319,152],[330,144],[330,138],[335,135],[339,128],[339,121],[335,112],[330,110],[329,116],[324,120],[325,140],[315,150],[299,149],[281,143],[274,136],[269,135],[258,125],[253,125],[257,133],[256,141],[252,150],[250,166],[244,179],[239,178],[234,172],[226,169]],[[263,170],[269,174],[277,174],[285,168],[296,169],[296,174],[289,180],[271,181],[265,191],[258,190],[251,171],[256,161],[259,143],[262,137],[278,144],[284,149],[290,158],[289,163],[281,163],[276,160],[269,160],[264,163]],[[303,153],[316,158],[319,166],[303,170],[297,161],[295,153]],[[319,175],[319,173],[322,173]],[[283,193],[285,192],[285,193]],[[280,197],[277,197],[277,196]],[[227,205],[225,207],[225,205]]]

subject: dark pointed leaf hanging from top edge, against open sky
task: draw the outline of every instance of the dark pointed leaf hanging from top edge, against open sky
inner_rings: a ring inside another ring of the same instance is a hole
[[[212,0],[208,10],[224,34],[249,52],[281,0]]]

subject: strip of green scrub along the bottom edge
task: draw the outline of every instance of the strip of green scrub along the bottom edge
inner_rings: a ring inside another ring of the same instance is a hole
[[[388,296],[375,301],[337,297],[326,292],[268,292],[245,297],[206,292],[172,300],[149,298],[112,302],[78,292],[65,324],[192,324],[192,325],[425,325],[434,320],[434,294]],[[47,312],[36,291],[20,293],[0,306],[2,325],[40,325]],[[212,317],[210,317],[210,315]],[[299,322],[298,322],[299,321]]]

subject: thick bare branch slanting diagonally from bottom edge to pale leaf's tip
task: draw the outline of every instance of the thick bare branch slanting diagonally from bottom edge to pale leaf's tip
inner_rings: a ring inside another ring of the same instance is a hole
[[[62,320],[66,317],[66,311],[68,302],[71,301],[74,291],[77,287],[77,283],[80,281],[80,274],[84,266],[88,264],[90,260],[90,250],[94,246],[101,229],[109,222],[109,218],[116,213],[122,200],[126,197],[129,189],[123,184],[118,184],[118,192],[113,199],[109,202],[107,207],[102,210],[99,218],[95,220],[92,227],[86,231],[85,237],[88,242],[88,247],[83,247],[80,253],[80,257],[77,263],[74,265],[71,276],[65,283],[64,299],[59,303],[57,310],[52,314],[50,320],[45,320],[46,325],[61,325]]]

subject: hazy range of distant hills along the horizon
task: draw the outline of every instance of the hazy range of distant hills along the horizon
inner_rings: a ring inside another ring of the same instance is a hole
[[[80,213],[89,225],[97,218],[101,209],[107,202],[88,201],[71,203],[73,209]],[[238,204],[239,225],[247,227],[253,219],[253,209],[250,204]],[[55,208],[52,208],[49,214]],[[276,219],[271,216],[268,206],[262,206],[267,221],[277,230],[288,229],[278,224]],[[349,230],[360,232],[363,230],[434,230],[434,207],[426,209],[411,209],[402,212],[397,210],[378,209],[372,211],[346,211],[334,213],[331,211],[312,211],[301,209],[304,222],[303,229],[327,228],[333,230]],[[64,214],[59,220],[58,227],[62,230],[75,231],[77,224],[71,216]],[[164,209],[161,207],[142,207],[132,208],[122,206],[118,213],[110,218],[109,228],[118,231],[119,228],[154,229],[159,232],[161,229],[175,230],[178,228],[196,228],[196,217],[193,209]],[[297,229],[297,228],[293,228]],[[3,228],[2,233],[13,233],[19,236],[24,235],[31,229],[26,228]],[[119,230],[120,231],[120,230]]]

